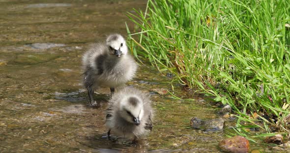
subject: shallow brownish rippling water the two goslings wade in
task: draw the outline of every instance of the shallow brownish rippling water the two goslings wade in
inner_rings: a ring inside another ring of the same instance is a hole
[[[170,78],[140,66],[128,82],[151,91],[154,128],[137,146],[122,137],[108,140],[104,110],[110,89],[97,90],[98,109],[86,105],[81,56],[106,34],[126,34],[125,12],[145,8],[146,0],[0,0],[0,152],[171,153],[220,152],[225,131],[190,128],[192,117],[218,118],[220,110],[202,97],[191,101],[159,95]],[[129,24],[133,27],[132,24]],[[180,86],[179,97],[189,98]],[[256,145],[256,148],[261,148]]]

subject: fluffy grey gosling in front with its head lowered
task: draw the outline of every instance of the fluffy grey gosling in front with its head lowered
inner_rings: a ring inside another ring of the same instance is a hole
[[[118,136],[133,138],[138,142],[153,128],[149,94],[136,88],[126,87],[115,93],[109,101],[106,126],[108,138],[111,131]]]

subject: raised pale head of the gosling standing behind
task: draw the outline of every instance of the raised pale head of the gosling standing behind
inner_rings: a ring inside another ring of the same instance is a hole
[[[107,37],[107,46],[111,55],[121,57],[128,52],[125,39],[119,34],[112,34]]]

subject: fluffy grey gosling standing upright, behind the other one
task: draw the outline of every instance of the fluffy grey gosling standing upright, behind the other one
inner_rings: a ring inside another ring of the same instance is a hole
[[[98,107],[93,99],[94,90],[99,86],[110,87],[111,96],[115,87],[131,80],[137,71],[137,63],[128,54],[125,39],[119,34],[107,37],[106,43],[93,44],[83,56],[84,78],[89,105]]]

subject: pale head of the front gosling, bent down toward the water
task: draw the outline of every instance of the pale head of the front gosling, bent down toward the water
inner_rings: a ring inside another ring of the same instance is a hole
[[[135,96],[124,98],[120,103],[120,115],[126,121],[139,126],[144,115],[142,100]]]

